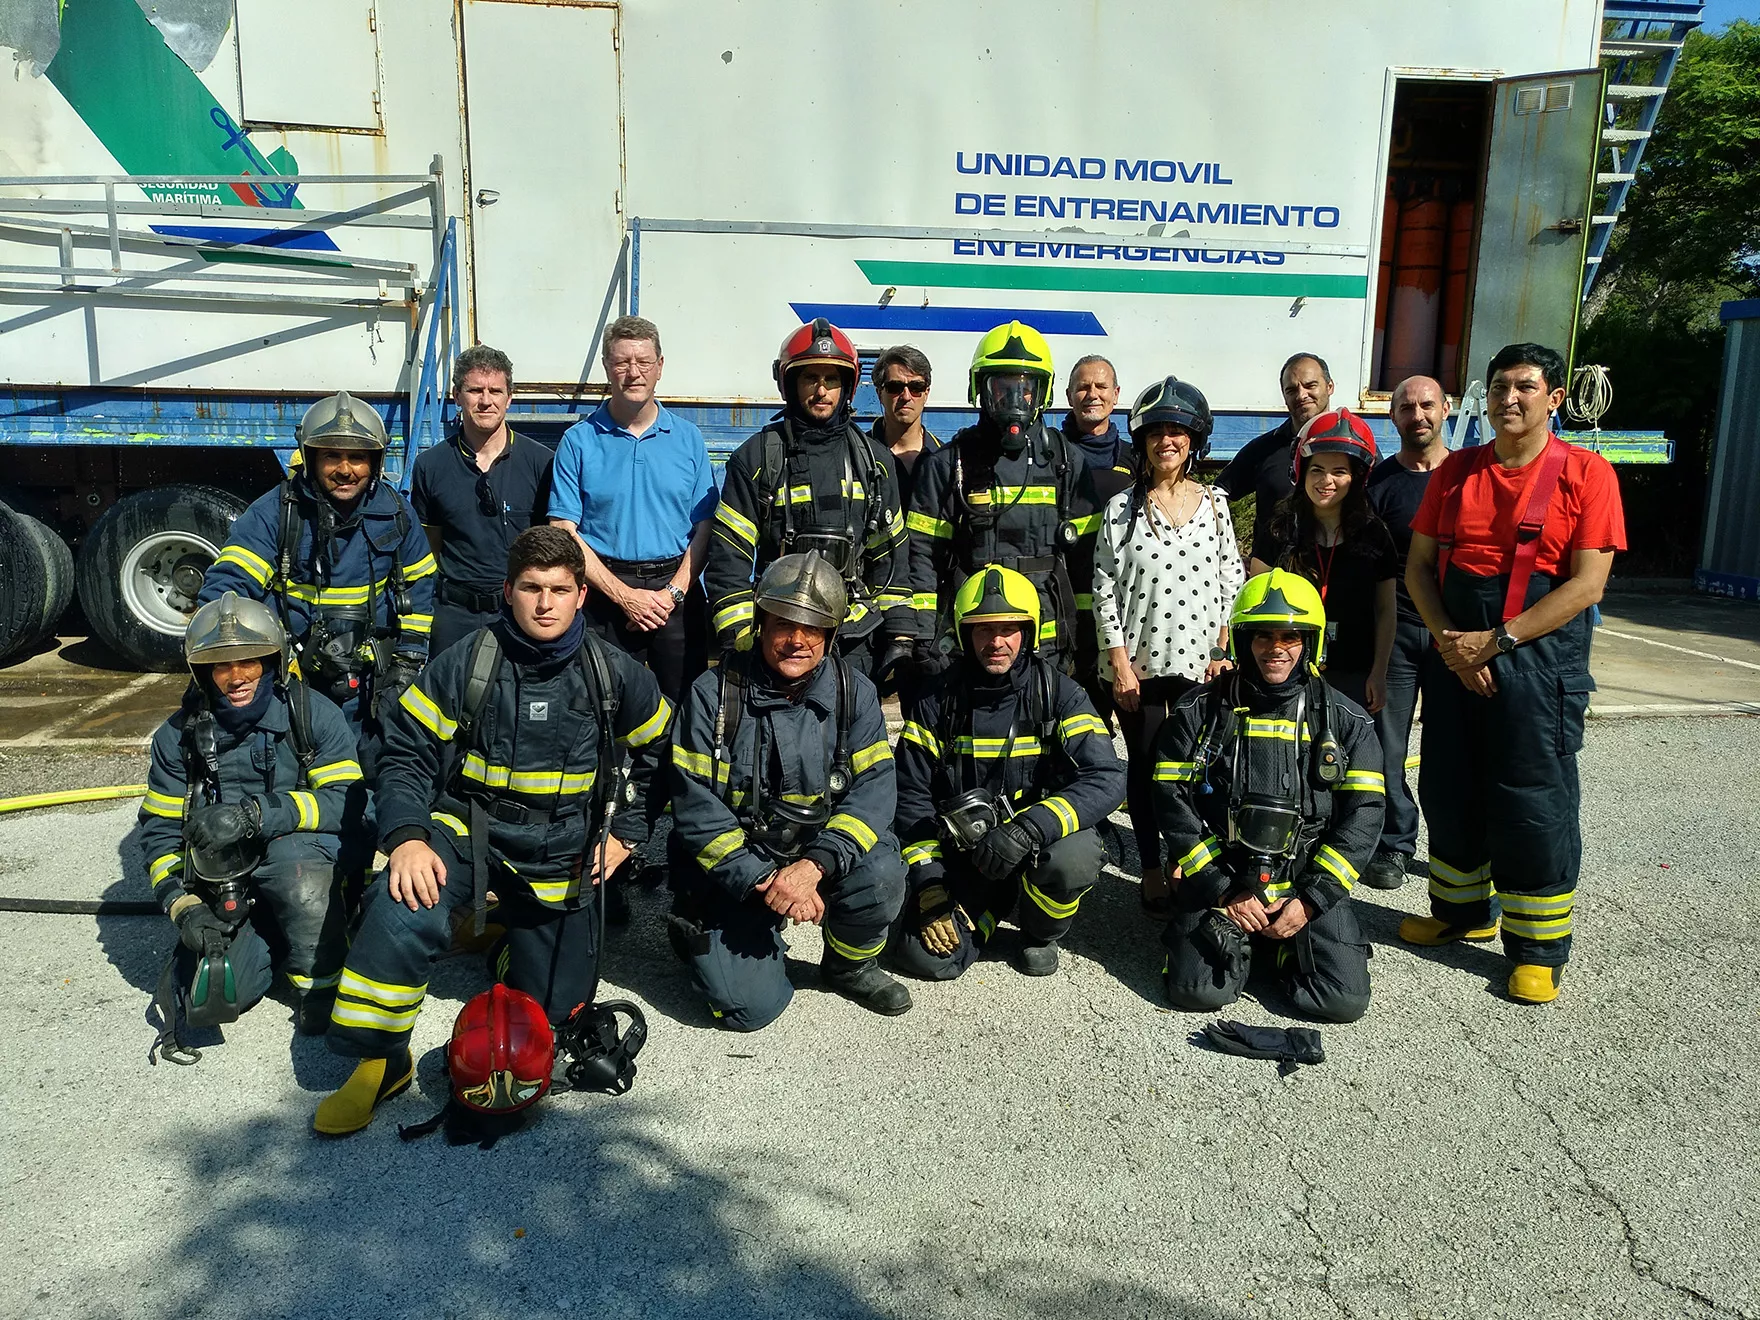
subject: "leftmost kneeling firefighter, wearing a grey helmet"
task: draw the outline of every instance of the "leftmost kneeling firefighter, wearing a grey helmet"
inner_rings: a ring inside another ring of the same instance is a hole
[[[141,855],[178,928],[158,1045],[194,1063],[181,1024],[236,1021],[276,968],[299,1031],[324,1031],[347,949],[336,834],[361,766],[341,711],[289,678],[268,605],[232,591],[202,605],[183,656],[183,708],[153,734]]]

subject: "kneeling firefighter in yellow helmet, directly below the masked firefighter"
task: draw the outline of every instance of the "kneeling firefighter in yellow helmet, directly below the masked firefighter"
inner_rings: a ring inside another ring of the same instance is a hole
[[[1058,970],[1058,940],[1100,875],[1095,827],[1125,766],[1075,679],[1037,655],[1038,591],[984,565],[954,597],[963,658],[910,704],[898,741],[898,836],[910,898],[894,957],[952,980],[1019,903],[1014,964]]]

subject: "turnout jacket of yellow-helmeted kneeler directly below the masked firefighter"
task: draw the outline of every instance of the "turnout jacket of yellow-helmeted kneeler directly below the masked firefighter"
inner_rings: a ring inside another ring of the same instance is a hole
[[[1037,658],[1001,679],[979,671],[973,681],[975,669],[943,671],[905,711],[898,836],[917,885],[942,876],[943,847],[952,848],[942,843],[936,808],[968,788],[1005,794],[1044,843],[1098,825],[1125,801],[1125,764],[1079,683]],[[1051,679],[1049,711],[1040,669]]]

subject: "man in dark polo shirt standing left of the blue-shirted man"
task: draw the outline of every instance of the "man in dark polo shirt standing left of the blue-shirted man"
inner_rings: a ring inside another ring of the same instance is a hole
[[[410,505],[440,560],[429,653],[486,628],[502,611],[514,539],[549,512],[549,447],[507,426],[514,363],[479,343],[452,366],[458,429],[415,459]]]

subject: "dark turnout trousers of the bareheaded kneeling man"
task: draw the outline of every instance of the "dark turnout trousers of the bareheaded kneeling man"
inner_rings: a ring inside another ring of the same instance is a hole
[[[431,908],[410,912],[391,898],[389,871],[373,876],[331,1010],[329,1047],[338,1054],[377,1060],[410,1044],[429,968],[452,943],[452,910],[472,899],[468,843],[445,829],[429,843],[447,875]],[[489,887],[500,898],[495,920],[507,928],[489,950],[495,979],[542,1003],[553,1026],[563,1023],[598,977],[598,894],[583,880],[579,906],[553,908],[507,868]]]

